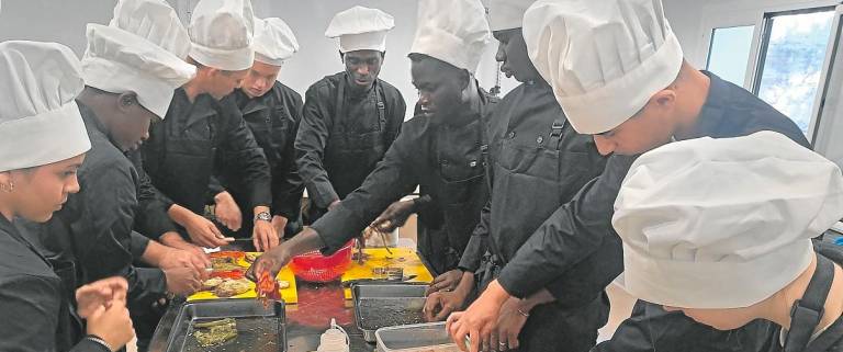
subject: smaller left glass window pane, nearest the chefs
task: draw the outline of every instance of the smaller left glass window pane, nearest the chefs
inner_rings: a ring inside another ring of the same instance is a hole
[[[711,33],[707,69],[727,81],[743,87],[754,32],[754,25],[715,29]]]

